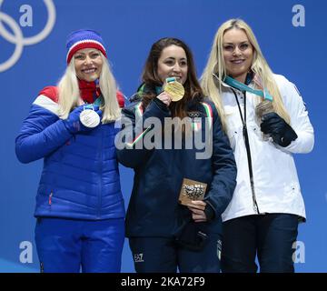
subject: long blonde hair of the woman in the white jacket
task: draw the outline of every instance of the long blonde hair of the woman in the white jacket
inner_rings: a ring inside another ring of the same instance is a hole
[[[223,80],[226,74],[226,65],[223,58],[223,35],[230,29],[242,29],[253,45],[253,64],[251,69],[254,75],[262,81],[263,88],[267,89],[272,95],[272,105],[274,111],[280,115],[287,123],[290,123],[290,115],[288,115],[284,105],[282,104],[282,96],[278,86],[273,78],[273,73],[265,60],[260,46],[253,34],[253,30],[241,19],[230,19],[221,25],[214,36],[213,46],[207,65],[201,76],[201,85],[203,92],[212,98],[217,111],[221,116],[223,129],[226,130],[226,117],[223,110],[222,93],[223,88],[221,82],[217,83],[217,78]],[[215,75],[215,76],[214,76]],[[263,100],[262,97],[258,97]]]

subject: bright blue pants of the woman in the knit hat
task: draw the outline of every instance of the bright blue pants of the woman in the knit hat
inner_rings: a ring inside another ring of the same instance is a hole
[[[118,273],[124,219],[37,218],[35,243],[41,272]]]

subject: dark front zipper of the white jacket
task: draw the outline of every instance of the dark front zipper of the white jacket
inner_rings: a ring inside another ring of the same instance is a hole
[[[244,140],[244,144],[245,144],[245,148],[246,148],[246,155],[247,155],[247,161],[248,161],[248,166],[249,166],[250,185],[251,185],[251,192],[252,192],[252,196],[253,196],[253,210],[256,214],[260,214],[259,207],[256,202],[256,196],[255,196],[255,190],[254,190],[252,157],[251,157],[251,150],[250,150],[250,143],[249,143],[249,135],[248,135],[247,126],[246,126],[246,92],[245,91],[243,92],[243,95],[244,95],[244,117],[243,117],[242,111],[241,111],[241,106],[238,101],[237,95],[233,89],[232,89],[232,91],[235,96],[235,99],[236,99],[236,102],[237,102],[237,105],[238,105],[238,108],[240,111],[242,124],[243,124],[243,140]]]

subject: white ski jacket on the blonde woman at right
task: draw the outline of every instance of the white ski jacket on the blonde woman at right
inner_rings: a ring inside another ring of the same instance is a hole
[[[229,136],[236,160],[237,186],[233,199],[223,212],[223,221],[240,216],[264,213],[287,213],[304,218],[305,207],[292,154],[309,153],[314,143],[313,128],[308,112],[296,86],[282,75],[274,75],[282,101],[291,117],[291,125],[298,135],[290,146],[274,144],[264,139],[254,108],[260,97],[223,85],[223,106]],[[251,83],[249,86],[253,86]],[[253,189],[248,166],[248,155],[243,139],[243,122],[235,95],[244,115],[246,97],[246,125],[253,166]]]

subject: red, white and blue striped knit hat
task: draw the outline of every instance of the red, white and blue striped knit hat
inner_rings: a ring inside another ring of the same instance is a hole
[[[104,48],[104,40],[101,35],[99,35],[96,31],[90,29],[80,29],[72,32],[67,37],[66,42],[67,48],[67,64],[70,63],[74,53],[76,53],[80,49],[84,48],[96,48],[105,57],[107,57],[105,48]]]

